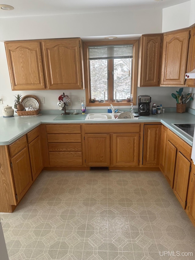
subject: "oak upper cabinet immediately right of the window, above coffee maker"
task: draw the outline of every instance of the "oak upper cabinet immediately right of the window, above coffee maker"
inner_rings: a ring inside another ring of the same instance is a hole
[[[159,86],[161,34],[142,35],[139,40],[138,87]]]

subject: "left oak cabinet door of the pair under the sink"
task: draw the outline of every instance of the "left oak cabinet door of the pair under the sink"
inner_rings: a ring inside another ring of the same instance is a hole
[[[110,135],[85,134],[86,166],[110,165]]]

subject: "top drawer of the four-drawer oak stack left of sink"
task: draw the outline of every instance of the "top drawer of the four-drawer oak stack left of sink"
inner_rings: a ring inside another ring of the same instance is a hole
[[[47,134],[66,134],[66,133],[81,133],[81,127],[79,124],[51,124],[46,125]]]

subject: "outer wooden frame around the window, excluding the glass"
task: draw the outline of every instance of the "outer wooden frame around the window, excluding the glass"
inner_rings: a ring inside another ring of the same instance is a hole
[[[137,75],[138,75],[138,45],[139,40],[111,40],[111,41],[85,41],[83,42],[83,52],[84,52],[84,77],[85,77],[85,94],[86,94],[86,106],[108,106],[109,104],[116,105],[113,102],[106,101],[105,103],[95,103],[90,102],[90,68],[88,60],[88,46],[96,45],[123,45],[123,44],[133,44],[133,65],[132,65],[132,94],[133,94],[133,105],[137,102]],[[108,88],[109,91],[109,88]],[[129,105],[126,100],[122,102],[117,102],[117,106]]]

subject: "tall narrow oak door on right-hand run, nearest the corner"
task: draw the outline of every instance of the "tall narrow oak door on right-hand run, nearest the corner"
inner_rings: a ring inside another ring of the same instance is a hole
[[[167,128],[165,126],[162,126],[159,167],[163,174],[165,174],[165,165],[166,165],[166,144],[167,144]]]

